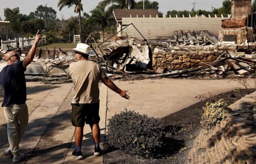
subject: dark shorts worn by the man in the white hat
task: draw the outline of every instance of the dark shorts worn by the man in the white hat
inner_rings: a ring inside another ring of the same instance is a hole
[[[83,127],[86,124],[99,124],[99,102],[92,104],[71,104],[72,105],[72,125]]]

